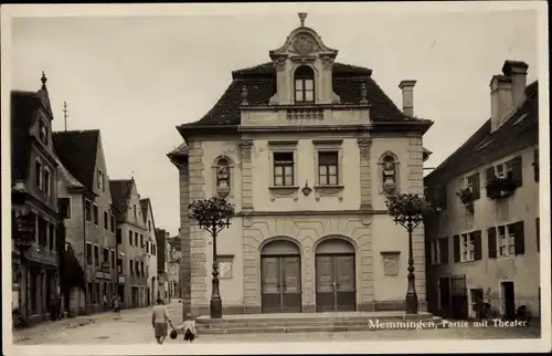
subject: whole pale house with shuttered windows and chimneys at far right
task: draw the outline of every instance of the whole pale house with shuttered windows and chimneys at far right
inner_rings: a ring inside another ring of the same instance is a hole
[[[540,315],[539,88],[527,73],[503,63],[490,118],[424,179],[438,208],[425,221],[432,313],[476,317],[489,303],[493,315]]]

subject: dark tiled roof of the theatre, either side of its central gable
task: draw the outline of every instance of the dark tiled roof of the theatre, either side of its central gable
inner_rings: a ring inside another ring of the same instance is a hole
[[[367,86],[370,115],[374,121],[403,119],[405,116],[382,88],[372,80],[372,70],[342,63],[335,63],[333,92],[341,98],[341,104],[359,104],[361,86]],[[247,102],[251,106],[268,105],[276,93],[276,70],[272,62],[250,69],[232,72],[232,83],[214,106],[198,122],[187,126],[237,126],[240,125],[240,105],[242,88],[247,88]]]

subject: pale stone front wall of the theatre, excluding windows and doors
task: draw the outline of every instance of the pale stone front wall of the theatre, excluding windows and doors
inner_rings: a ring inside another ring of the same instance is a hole
[[[336,140],[333,134],[273,135],[253,139],[251,161],[241,153],[237,138],[226,140],[203,139],[189,142],[188,169],[180,168],[181,177],[181,240],[190,244],[182,251],[182,265],[190,265],[191,308],[204,313],[211,294],[212,238],[190,223],[185,214],[188,203],[215,193],[214,165],[219,157],[231,160],[231,195],[229,201],[237,212],[252,205],[250,216],[238,216],[217,238],[217,254],[233,256],[233,276],[221,280],[223,305],[234,312],[258,311],[259,249],[272,238],[288,237],[302,249],[304,310],[314,308],[315,245],[323,238],[336,235],[348,239],[357,250],[357,304],[358,308],[403,308],[406,291],[407,233],[386,216],[385,198],[381,189],[380,157],[392,151],[397,157],[399,190],[423,192],[422,138],[373,137],[368,157],[359,148],[358,137],[343,135],[340,144],[340,176],[344,178],[341,191],[325,196],[315,189],[308,197],[300,192],[306,182],[316,185],[316,139]],[[296,186],[287,196],[272,191],[269,142],[296,140]],[[340,138],[341,139],[341,138]],[[368,170],[368,171],[367,171]],[[361,181],[360,177],[368,176]],[[187,185],[187,182],[189,182]],[[363,202],[371,205],[365,214],[359,216]],[[188,238],[189,233],[189,240]],[[396,237],[390,239],[389,237]],[[189,242],[188,242],[189,241]],[[413,233],[416,268],[416,289],[421,307],[425,307],[424,230]],[[383,275],[381,252],[400,252],[397,275]],[[189,261],[189,262],[187,262]],[[189,263],[189,264],[188,264]],[[185,284],[185,283],[184,283]],[[185,285],[184,285],[184,299]]]

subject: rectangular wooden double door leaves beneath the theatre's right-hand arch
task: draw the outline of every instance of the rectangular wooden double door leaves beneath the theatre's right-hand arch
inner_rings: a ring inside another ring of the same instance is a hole
[[[354,311],[355,295],[354,255],[317,255],[317,311]]]

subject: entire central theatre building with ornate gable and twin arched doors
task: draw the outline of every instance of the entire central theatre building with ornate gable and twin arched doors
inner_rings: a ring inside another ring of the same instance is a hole
[[[209,313],[212,239],[188,205],[219,196],[236,217],[217,238],[223,310],[236,313],[404,310],[408,240],[388,216],[395,192],[423,193],[432,122],[403,111],[370,69],[335,61],[301,25],[272,62],[234,71],[201,119],[178,127],[183,312]],[[413,234],[425,308],[424,228]]]

